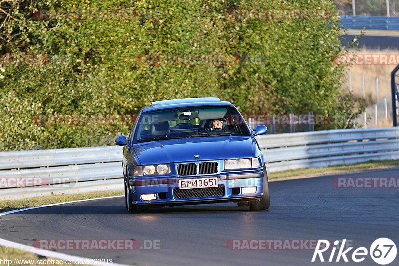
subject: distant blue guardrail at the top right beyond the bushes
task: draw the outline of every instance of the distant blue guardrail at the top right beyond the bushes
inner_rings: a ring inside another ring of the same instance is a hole
[[[399,17],[387,16],[341,16],[345,29],[399,30]]]

